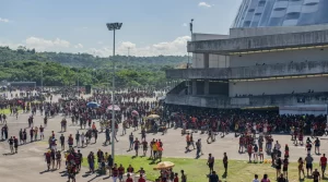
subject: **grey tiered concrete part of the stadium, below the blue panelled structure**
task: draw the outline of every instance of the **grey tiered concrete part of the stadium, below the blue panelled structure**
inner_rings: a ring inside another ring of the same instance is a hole
[[[211,37],[188,43],[194,54],[190,69],[166,71],[167,78],[191,83],[190,94],[169,93],[167,104],[209,108],[328,104],[327,25],[304,31],[234,28],[230,38],[207,38]]]

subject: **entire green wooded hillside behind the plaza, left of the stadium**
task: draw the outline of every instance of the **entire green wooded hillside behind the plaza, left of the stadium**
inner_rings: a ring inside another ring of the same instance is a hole
[[[36,82],[44,86],[112,85],[112,63],[116,60],[118,87],[164,87],[166,69],[184,64],[188,57],[98,58],[87,53],[36,52],[24,47],[0,47],[0,81]]]

